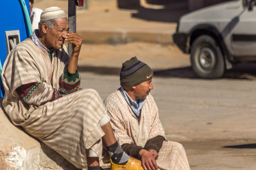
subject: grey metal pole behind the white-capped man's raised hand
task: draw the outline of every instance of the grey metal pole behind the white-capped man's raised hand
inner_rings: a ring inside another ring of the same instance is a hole
[[[68,22],[69,32],[76,32],[76,2],[77,0],[68,0]],[[67,45],[69,57],[72,54],[72,44]]]

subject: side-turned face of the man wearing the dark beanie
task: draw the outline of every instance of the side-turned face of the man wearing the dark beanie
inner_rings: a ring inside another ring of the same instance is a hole
[[[136,88],[134,92],[136,100],[145,99],[149,95],[150,90],[153,89],[152,79],[144,81],[141,84],[136,85],[135,87]]]

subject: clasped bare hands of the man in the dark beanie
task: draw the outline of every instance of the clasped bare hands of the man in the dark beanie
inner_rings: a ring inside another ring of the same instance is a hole
[[[156,160],[152,153],[145,149],[142,149],[141,151],[139,151],[139,157],[141,158],[141,166],[144,170],[158,170]]]

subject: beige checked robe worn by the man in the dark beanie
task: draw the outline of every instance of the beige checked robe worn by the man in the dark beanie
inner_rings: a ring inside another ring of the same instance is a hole
[[[158,117],[158,108],[154,98],[149,94],[141,109],[141,119],[138,123],[135,114],[119,90],[104,100],[115,138],[122,144],[134,143],[144,147],[147,140],[156,136],[165,137],[163,126]],[[156,160],[161,170],[189,170],[187,155],[181,144],[165,140]],[[108,167],[108,153],[103,151],[102,167]]]

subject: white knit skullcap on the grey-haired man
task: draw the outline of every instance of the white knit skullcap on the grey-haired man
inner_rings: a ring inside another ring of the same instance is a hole
[[[67,18],[67,15],[61,8],[54,6],[43,10],[40,16],[40,21],[57,18]]]

